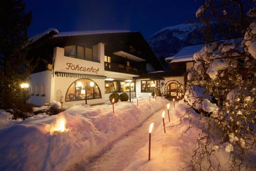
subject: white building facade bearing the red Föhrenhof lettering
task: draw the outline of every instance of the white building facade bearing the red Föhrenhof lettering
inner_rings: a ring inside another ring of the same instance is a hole
[[[29,102],[38,106],[44,105],[45,103],[51,103],[52,101],[60,101],[63,105],[72,105],[75,103],[85,102],[85,100],[78,101],[67,101],[66,94],[71,84],[81,78],[68,77],[68,76],[57,76],[56,72],[59,73],[74,73],[74,74],[90,74],[95,76],[105,76],[109,78],[117,79],[133,79],[138,75],[117,73],[111,71],[104,71],[104,44],[98,43],[93,46],[93,55],[98,58],[99,62],[77,59],[67,57],[64,55],[64,48],[56,47],[53,51],[54,70],[43,71],[39,73],[31,74],[30,78],[30,99]],[[89,69],[88,69],[89,68]],[[97,85],[100,90],[101,98],[88,99],[87,103],[100,104],[109,100],[111,93],[104,93],[104,81],[105,79],[90,78]],[[44,95],[41,92],[45,91]],[[45,87],[45,88],[44,88]],[[129,92],[126,92],[129,94]],[[135,97],[135,92],[131,93],[131,97]]]

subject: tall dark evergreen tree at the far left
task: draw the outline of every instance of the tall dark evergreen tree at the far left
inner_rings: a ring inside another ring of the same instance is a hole
[[[32,13],[20,0],[0,2],[0,108],[20,108],[27,90],[20,88],[29,75],[26,47]],[[23,109],[21,109],[23,110]]]

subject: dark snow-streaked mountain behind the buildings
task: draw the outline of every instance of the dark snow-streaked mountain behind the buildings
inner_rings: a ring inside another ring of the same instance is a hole
[[[153,34],[147,42],[158,58],[173,56],[185,46],[202,44],[202,31],[199,31],[202,27],[199,23],[166,27]]]

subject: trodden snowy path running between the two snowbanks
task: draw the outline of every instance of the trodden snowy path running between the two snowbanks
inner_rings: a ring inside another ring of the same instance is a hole
[[[110,151],[104,153],[100,158],[84,167],[84,170],[123,170],[130,164],[133,155],[139,148],[143,147],[148,141],[148,127],[154,122],[154,128],[162,123],[161,109],[150,118],[148,118],[141,126],[129,132],[123,139],[116,142]]]

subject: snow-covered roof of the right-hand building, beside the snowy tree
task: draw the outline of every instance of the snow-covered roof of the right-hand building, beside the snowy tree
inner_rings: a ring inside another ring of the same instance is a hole
[[[170,63],[190,61],[190,60],[193,60],[194,53],[200,51],[203,48],[203,46],[204,44],[187,46],[182,48],[175,56],[167,57],[167,58],[170,58],[170,59],[173,58],[173,60],[170,61]]]

